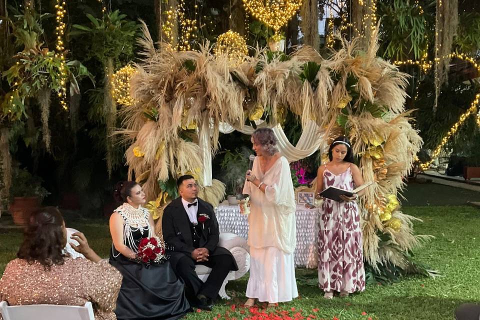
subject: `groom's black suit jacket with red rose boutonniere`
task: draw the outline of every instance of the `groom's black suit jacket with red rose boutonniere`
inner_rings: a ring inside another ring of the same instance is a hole
[[[238,270],[238,266],[236,265],[235,259],[230,251],[224,247],[218,246],[218,236],[220,232],[218,229],[218,221],[216,220],[215,212],[213,211],[213,206],[200,198],[197,198],[197,201],[197,219],[200,213],[205,213],[209,216],[209,219],[203,224],[198,222],[201,229],[198,247],[207,248],[210,256],[222,254],[230,255],[234,264],[231,270]],[[163,239],[168,246],[173,247],[172,252],[170,252],[170,264],[173,269],[175,269],[178,260],[184,255],[191,256],[191,252],[195,249],[190,229],[190,220],[188,219],[188,214],[181,202],[181,197],[174,199],[165,207],[161,219],[161,227]]]

